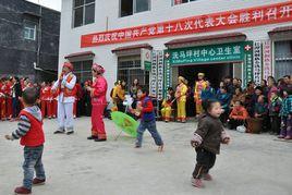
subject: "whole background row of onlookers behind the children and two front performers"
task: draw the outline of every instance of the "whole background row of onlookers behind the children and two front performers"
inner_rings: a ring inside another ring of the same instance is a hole
[[[218,99],[223,110],[220,120],[229,129],[236,130],[239,126],[245,126],[245,130],[250,132],[270,132],[287,139],[292,137],[292,77],[290,75],[285,75],[279,81],[269,76],[267,81],[263,80],[260,85],[248,82],[245,88],[242,87],[240,78],[227,76],[220,82],[218,88],[214,88],[211,83],[205,78],[204,73],[198,73],[193,88],[187,86],[187,81],[182,76],[179,76],[175,89],[168,88],[167,97],[160,102],[160,115],[163,121],[169,122],[175,119],[178,122],[186,122],[190,99],[194,101],[196,117],[203,112],[202,102],[204,100]],[[2,77],[0,80],[0,119],[11,121],[17,119],[23,107],[20,98],[22,92],[32,86],[38,89],[38,105],[42,117],[57,118],[58,94],[52,90],[54,83],[33,83],[27,77],[19,78],[17,76]],[[76,81],[73,118],[92,115],[92,98],[87,90],[92,85],[92,81],[82,84]],[[136,108],[137,92],[142,88],[138,80],[133,81],[129,92],[125,88],[124,81],[114,83],[114,87],[110,92],[111,111],[126,111],[124,105],[126,94],[133,99],[130,108]]]

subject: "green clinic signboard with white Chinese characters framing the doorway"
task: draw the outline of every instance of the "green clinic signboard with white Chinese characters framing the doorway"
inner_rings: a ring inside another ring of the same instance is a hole
[[[165,51],[166,71],[172,65],[192,65],[205,63],[243,62],[244,85],[253,80],[253,41],[229,42],[198,46],[192,48],[170,49]],[[171,84],[171,69],[166,85]],[[165,72],[165,76],[168,73]]]

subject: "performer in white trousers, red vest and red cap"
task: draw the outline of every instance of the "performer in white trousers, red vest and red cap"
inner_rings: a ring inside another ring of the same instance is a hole
[[[65,133],[70,135],[74,133],[73,129],[73,103],[76,95],[76,76],[72,73],[73,64],[64,62],[62,73],[59,80],[52,86],[52,93],[58,94],[58,123],[59,129],[54,134]]]

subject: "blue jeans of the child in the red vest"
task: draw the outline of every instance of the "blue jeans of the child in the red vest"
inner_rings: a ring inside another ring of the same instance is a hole
[[[37,147],[24,147],[24,163],[23,163],[23,186],[31,190],[33,185],[34,171],[36,171],[36,178],[45,180],[45,170],[41,162],[44,146]]]

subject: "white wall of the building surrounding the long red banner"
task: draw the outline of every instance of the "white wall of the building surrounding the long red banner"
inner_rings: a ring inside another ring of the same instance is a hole
[[[118,63],[118,59],[115,54],[111,52],[111,50],[117,47],[148,42],[154,47],[154,49],[159,50],[165,49],[165,42],[175,38],[212,35],[227,32],[244,33],[250,40],[268,39],[269,37],[267,32],[273,29],[275,27],[287,25],[284,23],[272,24],[252,28],[212,32],[197,35],[183,35],[175,37],[146,39],[134,42],[81,48],[81,35],[106,31],[107,17],[109,27],[108,29],[110,31],[115,28],[158,23],[186,16],[271,4],[277,2],[285,2],[285,0],[197,0],[174,7],[171,5],[171,0],[151,0],[151,11],[137,13],[131,16],[119,17],[119,0],[96,0],[95,23],[72,28],[73,2],[72,0],[62,0],[59,70],[61,69],[61,64],[64,62],[64,56],[74,52],[92,50],[96,54],[94,61],[105,66],[107,71],[105,75],[108,78],[109,88],[111,88],[117,78]]]

